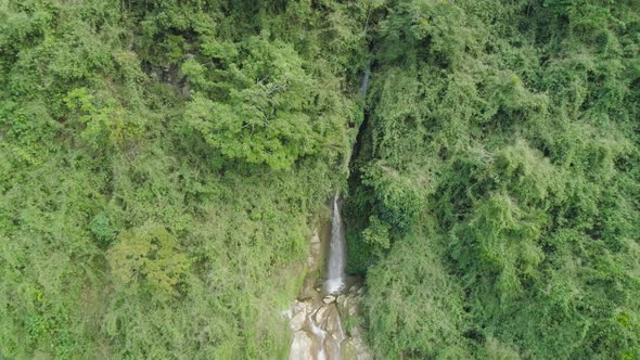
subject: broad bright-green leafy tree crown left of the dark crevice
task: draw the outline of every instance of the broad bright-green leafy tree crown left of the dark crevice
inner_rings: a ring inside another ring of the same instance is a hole
[[[320,119],[306,111],[312,105],[316,83],[286,43],[253,37],[240,49],[241,60],[228,64],[223,75],[229,79],[225,99],[207,97],[210,89],[202,86],[207,81],[201,66],[193,61],[183,66],[199,89],[187,107],[187,121],[230,159],[290,168],[319,145],[315,125]]]

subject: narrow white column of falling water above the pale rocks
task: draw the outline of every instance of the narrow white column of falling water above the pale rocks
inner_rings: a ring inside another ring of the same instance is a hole
[[[346,285],[347,244],[345,228],[338,206],[340,196],[333,196],[333,218],[331,221],[331,241],[329,243],[329,261],[324,288],[328,294],[340,293]]]

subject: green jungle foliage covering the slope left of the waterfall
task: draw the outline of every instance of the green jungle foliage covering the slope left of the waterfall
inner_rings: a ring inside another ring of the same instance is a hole
[[[0,358],[284,358],[361,7],[0,1]]]

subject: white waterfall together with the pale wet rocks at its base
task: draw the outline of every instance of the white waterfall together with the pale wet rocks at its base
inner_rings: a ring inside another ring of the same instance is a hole
[[[312,274],[322,266],[320,244],[328,245],[323,286],[317,287],[318,279],[311,275],[307,279],[311,281],[305,281],[295,303],[282,312],[289,318],[293,331],[289,360],[341,360],[343,352],[350,355],[349,359],[373,359],[363,345],[360,331],[351,331],[347,335],[342,327],[342,316],[357,314],[357,301],[363,288],[353,279],[347,282],[347,243],[338,193],[333,196],[332,203],[331,231],[328,229],[330,224],[324,222],[321,232],[313,232],[310,244]]]

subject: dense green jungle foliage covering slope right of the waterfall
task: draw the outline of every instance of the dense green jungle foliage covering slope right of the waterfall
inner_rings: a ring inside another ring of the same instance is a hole
[[[347,219],[377,356],[640,357],[640,3],[375,16]]]

